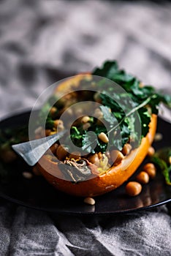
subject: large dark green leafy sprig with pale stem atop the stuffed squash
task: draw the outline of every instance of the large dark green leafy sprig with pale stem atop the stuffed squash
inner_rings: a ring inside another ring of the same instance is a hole
[[[88,152],[104,152],[107,147],[116,147],[121,150],[123,145],[130,140],[135,142],[135,146],[139,145],[140,138],[138,138],[138,135],[140,131],[137,130],[134,113],[137,112],[140,118],[141,138],[143,138],[147,135],[151,122],[151,115],[148,113],[148,109],[157,114],[160,102],[171,105],[171,97],[159,94],[153,86],[141,86],[140,80],[127,74],[124,70],[118,69],[116,61],[105,62],[104,66],[95,69],[92,75],[99,75],[113,80],[126,93],[121,92],[111,83],[107,83],[106,80],[102,79],[97,83],[101,90],[99,97],[102,99],[103,104],[100,107],[103,113],[103,121],[109,124],[111,129],[107,131],[105,127],[96,126],[93,122],[91,129],[95,132],[95,135],[86,133],[80,138],[83,148]],[[112,110],[111,113],[110,110]],[[108,135],[110,140],[108,145],[96,138],[100,132]],[[116,132],[115,136],[114,132]],[[96,148],[94,148],[94,143],[96,143]]]

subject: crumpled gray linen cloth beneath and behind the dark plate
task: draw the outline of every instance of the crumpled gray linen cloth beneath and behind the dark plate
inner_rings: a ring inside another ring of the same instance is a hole
[[[171,4],[0,1],[0,117],[31,108],[68,74],[106,59],[171,91]],[[58,216],[0,200],[0,255],[171,255],[166,206],[113,217]]]

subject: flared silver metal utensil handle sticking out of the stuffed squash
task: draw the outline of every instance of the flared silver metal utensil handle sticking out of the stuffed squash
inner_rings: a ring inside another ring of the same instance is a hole
[[[35,165],[39,159],[45,154],[57,140],[62,138],[67,131],[58,132],[55,135],[50,135],[38,140],[30,140],[28,142],[12,145],[12,148],[28,163]]]

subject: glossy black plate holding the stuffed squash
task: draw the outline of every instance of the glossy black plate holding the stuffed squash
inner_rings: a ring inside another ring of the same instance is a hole
[[[27,124],[29,114],[30,112],[26,112],[4,119],[0,122],[0,129]],[[163,134],[163,140],[153,144],[156,149],[170,146],[170,128],[171,124],[159,119],[158,132]],[[160,206],[171,201],[171,187],[164,183],[164,178],[160,173],[153,181],[143,186],[142,192],[137,197],[127,196],[124,190],[125,184],[123,184],[113,192],[96,197],[95,206],[88,206],[83,203],[83,198],[71,197],[58,192],[40,176],[34,176],[31,179],[23,178],[22,172],[26,170],[30,171],[31,167],[28,167],[23,159],[16,160],[12,165],[5,165],[4,171],[9,171],[9,176],[1,178],[1,197],[23,206],[58,214],[124,214]],[[140,168],[137,172],[139,171]],[[131,180],[134,180],[134,176]]]

